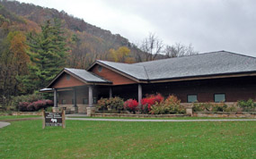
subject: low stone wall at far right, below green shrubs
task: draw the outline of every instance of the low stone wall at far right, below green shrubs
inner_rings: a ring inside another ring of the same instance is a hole
[[[194,112],[192,116],[216,118],[256,118],[256,112]]]

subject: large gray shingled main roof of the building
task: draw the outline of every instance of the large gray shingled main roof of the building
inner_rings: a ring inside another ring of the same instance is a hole
[[[225,51],[169,58],[145,63],[98,61],[136,79],[178,79],[256,71],[256,58]]]

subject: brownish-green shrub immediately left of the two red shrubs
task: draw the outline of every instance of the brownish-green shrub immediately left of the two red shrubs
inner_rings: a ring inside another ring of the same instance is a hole
[[[101,98],[98,100],[97,107],[104,111],[107,109],[114,109],[120,112],[123,110],[124,100],[118,96],[110,97],[110,98]]]

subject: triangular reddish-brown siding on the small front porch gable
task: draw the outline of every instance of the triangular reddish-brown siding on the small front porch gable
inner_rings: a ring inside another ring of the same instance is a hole
[[[66,79],[66,72],[64,72],[52,85],[51,88],[71,88],[77,86],[84,86],[85,83],[81,80],[75,79],[70,75],[70,79]]]

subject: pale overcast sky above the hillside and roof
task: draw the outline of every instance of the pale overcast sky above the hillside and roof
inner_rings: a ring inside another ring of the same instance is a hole
[[[199,53],[256,56],[255,0],[19,0],[58,11],[137,43],[149,32],[164,44],[190,43]]]

